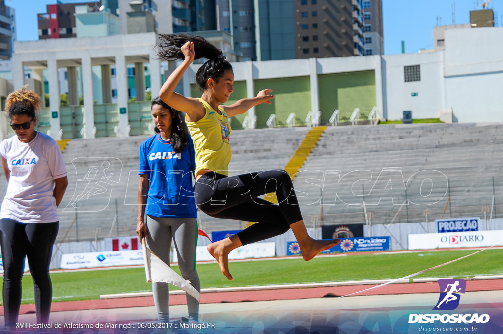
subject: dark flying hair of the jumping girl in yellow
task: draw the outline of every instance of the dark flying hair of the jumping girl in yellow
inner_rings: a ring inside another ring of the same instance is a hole
[[[164,34],[157,34],[157,36],[159,44],[155,47],[159,59],[167,61],[184,60],[185,56],[180,48],[188,41],[194,43],[194,59],[208,59],[208,61],[199,67],[196,73],[197,86],[201,92],[206,91],[206,83],[210,77],[218,81],[226,70],[232,69],[232,65],[222,54],[222,50],[201,36]]]

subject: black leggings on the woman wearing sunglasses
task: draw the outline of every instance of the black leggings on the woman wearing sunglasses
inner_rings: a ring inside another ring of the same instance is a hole
[[[33,277],[37,321],[39,323],[49,321],[52,299],[49,262],[58,229],[59,221],[21,223],[9,218],[0,219],[0,245],[4,261],[4,312],[7,326],[15,325],[18,321],[25,256],[28,258]]]

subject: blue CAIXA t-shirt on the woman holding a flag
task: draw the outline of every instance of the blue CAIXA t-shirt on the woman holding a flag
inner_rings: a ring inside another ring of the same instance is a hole
[[[150,174],[145,213],[155,217],[197,218],[192,175],[195,170],[194,144],[181,153],[171,141],[157,133],[140,146],[138,174]]]

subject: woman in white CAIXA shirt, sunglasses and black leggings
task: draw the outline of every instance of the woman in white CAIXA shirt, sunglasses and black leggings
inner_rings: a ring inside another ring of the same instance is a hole
[[[25,256],[35,288],[37,322],[47,323],[52,299],[49,262],[59,229],[57,207],[68,185],[63,154],[50,136],[35,130],[40,98],[24,87],[7,97],[15,136],[0,143],[7,192],[0,211],[6,327],[21,305]]]

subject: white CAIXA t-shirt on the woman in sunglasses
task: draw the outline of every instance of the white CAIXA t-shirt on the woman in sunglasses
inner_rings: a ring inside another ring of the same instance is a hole
[[[29,143],[12,136],[0,143],[0,153],[11,171],[0,218],[23,223],[58,221],[52,193],[54,180],[66,176],[66,166],[57,142],[40,132]]]

